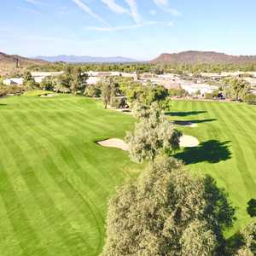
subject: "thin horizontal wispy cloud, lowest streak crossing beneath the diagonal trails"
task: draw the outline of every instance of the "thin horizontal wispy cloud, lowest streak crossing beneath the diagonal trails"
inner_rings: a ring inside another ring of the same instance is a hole
[[[88,31],[96,31],[96,32],[119,32],[124,30],[132,30],[137,29],[143,26],[155,26],[155,25],[162,25],[162,26],[173,26],[172,22],[162,22],[162,21],[146,21],[140,24],[128,25],[128,26],[87,26],[84,27],[85,30]]]

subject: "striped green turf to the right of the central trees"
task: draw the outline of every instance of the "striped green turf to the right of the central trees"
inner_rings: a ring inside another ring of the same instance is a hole
[[[187,168],[214,177],[236,206],[237,221],[227,236],[247,223],[247,201],[256,198],[256,106],[245,103],[173,101],[172,120],[191,120],[196,128],[179,127],[195,136],[199,147],[176,157]]]

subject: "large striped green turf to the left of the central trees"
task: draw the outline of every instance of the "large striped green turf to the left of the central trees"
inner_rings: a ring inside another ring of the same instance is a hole
[[[129,115],[84,97],[0,100],[0,255],[98,255],[108,197],[135,175],[116,148]]]

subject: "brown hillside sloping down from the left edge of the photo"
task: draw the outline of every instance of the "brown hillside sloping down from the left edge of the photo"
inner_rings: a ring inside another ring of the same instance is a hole
[[[45,65],[47,61],[38,59],[29,59],[20,55],[7,55],[0,52],[0,74],[9,74],[20,68],[26,68],[33,65]]]

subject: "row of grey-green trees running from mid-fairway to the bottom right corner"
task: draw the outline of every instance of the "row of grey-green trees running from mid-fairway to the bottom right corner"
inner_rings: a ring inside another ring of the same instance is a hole
[[[134,131],[125,137],[131,160],[148,161],[135,181],[108,203],[107,255],[256,255],[256,220],[236,240],[224,239],[235,208],[209,176],[195,176],[172,158],[181,133],[157,102],[134,105]]]

